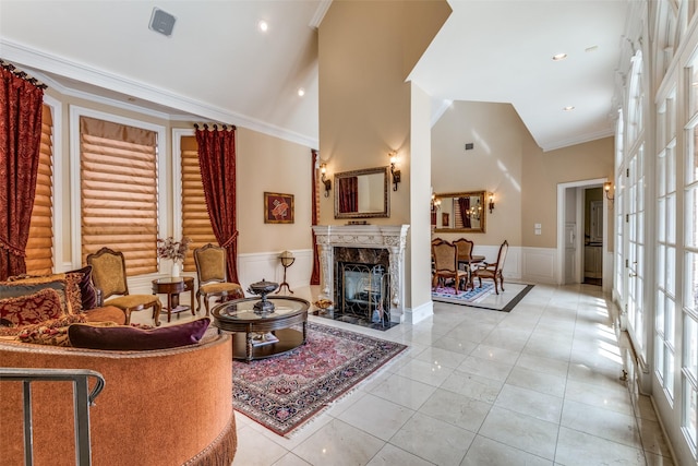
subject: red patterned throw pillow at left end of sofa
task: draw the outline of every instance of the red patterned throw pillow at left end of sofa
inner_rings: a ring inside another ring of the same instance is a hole
[[[0,299],[0,319],[11,326],[37,324],[65,315],[58,291],[52,288]]]

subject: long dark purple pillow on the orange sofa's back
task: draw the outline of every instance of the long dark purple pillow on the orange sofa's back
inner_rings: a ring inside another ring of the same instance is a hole
[[[79,348],[112,350],[165,349],[194,345],[208,328],[210,319],[197,319],[183,324],[142,330],[128,325],[95,326],[74,324],[68,328],[70,343]]]

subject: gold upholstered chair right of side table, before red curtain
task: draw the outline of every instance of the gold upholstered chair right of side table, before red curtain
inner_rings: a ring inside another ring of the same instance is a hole
[[[196,263],[196,277],[198,278],[198,289],[196,289],[197,313],[201,310],[202,298],[206,307],[206,315],[210,314],[210,304],[208,302],[210,298],[244,298],[242,287],[237,283],[228,282],[228,266],[224,248],[212,243],[196,248],[194,249],[194,262]]]

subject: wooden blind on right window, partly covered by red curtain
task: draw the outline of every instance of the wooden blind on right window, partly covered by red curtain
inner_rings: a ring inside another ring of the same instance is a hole
[[[182,136],[182,236],[191,238],[189,253],[184,260],[184,272],[196,270],[192,251],[208,242],[218,244],[210,226],[204,186],[198,168],[198,144],[195,136]]]

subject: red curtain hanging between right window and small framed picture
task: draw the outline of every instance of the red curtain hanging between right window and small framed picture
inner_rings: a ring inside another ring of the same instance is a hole
[[[238,279],[238,230],[236,228],[236,127],[204,124],[196,128],[198,166],[206,208],[218,244],[226,248],[228,280]]]

